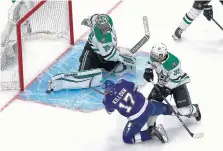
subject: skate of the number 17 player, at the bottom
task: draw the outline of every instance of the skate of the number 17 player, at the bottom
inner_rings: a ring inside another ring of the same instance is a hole
[[[154,140],[158,138],[162,143],[168,142],[168,137],[162,124],[159,124],[158,126],[150,126],[148,131]]]

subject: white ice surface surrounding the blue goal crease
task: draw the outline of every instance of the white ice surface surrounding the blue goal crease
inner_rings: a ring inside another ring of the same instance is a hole
[[[88,28],[81,20],[93,13],[106,13],[118,0],[73,0],[75,40]],[[142,16],[149,20],[151,39],[141,51],[149,52],[156,42],[163,42],[181,60],[182,69],[191,77],[188,84],[193,103],[198,103],[202,121],[184,118],[193,132],[204,132],[202,139],[192,139],[175,117],[158,118],[169,142],[150,141],[135,145],[122,142],[127,120],[116,112],[107,115],[99,110],[90,113],[55,108],[29,101],[14,100],[18,92],[0,92],[0,151],[195,151],[222,150],[222,77],[223,31],[202,15],[180,41],[172,33],[191,8],[193,0],[125,0],[110,12],[117,31],[118,45],[131,48],[143,35]],[[223,6],[211,3],[214,17],[223,25]],[[0,30],[7,22],[10,0],[2,0]],[[64,41],[35,40],[24,45],[25,85],[47,68],[68,47]],[[43,55],[44,54],[44,55]],[[34,57],[35,56],[35,57]],[[152,85],[140,88],[147,97]],[[168,98],[170,99],[170,98]],[[171,101],[173,102],[173,101]],[[6,107],[5,105],[8,104]],[[6,108],[5,108],[6,107]]]

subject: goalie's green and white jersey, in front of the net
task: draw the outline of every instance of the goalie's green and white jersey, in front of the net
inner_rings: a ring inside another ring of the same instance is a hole
[[[92,49],[95,53],[101,55],[107,61],[118,61],[119,52],[117,50],[116,31],[113,27],[112,19],[106,15],[112,27],[112,31],[103,34],[96,26],[96,15],[91,17],[91,33],[88,37],[88,42],[92,44]]]

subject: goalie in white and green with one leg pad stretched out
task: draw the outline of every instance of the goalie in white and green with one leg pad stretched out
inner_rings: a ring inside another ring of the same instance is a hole
[[[80,89],[100,86],[102,72],[114,69],[115,75],[135,73],[135,56],[117,47],[113,21],[106,14],[94,14],[81,22],[91,28],[88,41],[79,58],[79,69],[75,73],[61,73],[52,77],[47,93],[62,89]]]

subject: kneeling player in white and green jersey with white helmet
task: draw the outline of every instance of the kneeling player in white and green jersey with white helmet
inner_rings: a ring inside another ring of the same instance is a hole
[[[160,43],[152,47],[148,66],[145,69],[144,78],[151,82],[153,80],[153,70],[158,76],[156,84],[164,97],[173,95],[179,115],[195,117],[201,120],[201,113],[198,104],[192,104],[186,84],[190,82],[187,73],[181,69],[180,60],[167,51],[165,44]],[[152,89],[148,100],[163,101],[155,88]]]

